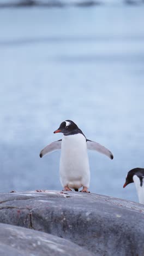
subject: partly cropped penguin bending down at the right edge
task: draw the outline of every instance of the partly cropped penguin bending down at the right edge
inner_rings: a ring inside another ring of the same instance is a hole
[[[133,182],[135,183],[139,202],[144,204],[144,168],[134,168],[130,170],[125,179],[123,188]]]

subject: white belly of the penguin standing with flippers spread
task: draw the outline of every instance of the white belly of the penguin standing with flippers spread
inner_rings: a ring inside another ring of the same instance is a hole
[[[63,187],[89,187],[87,143],[81,133],[63,136],[59,172]]]

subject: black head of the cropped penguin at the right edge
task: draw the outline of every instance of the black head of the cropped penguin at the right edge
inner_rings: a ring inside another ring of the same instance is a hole
[[[127,177],[125,179],[125,183],[123,185],[123,188],[125,188],[128,184],[134,182],[134,180],[133,180],[134,175],[136,175],[137,177],[140,178],[140,182],[142,185],[142,178],[144,176],[144,168],[134,168],[128,172]]]

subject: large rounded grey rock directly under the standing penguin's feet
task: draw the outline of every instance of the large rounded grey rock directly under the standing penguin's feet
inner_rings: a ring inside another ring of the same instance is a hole
[[[96,255],[144,255],[144,205],[79,192],[0,194],[0,222],[67,238]]]

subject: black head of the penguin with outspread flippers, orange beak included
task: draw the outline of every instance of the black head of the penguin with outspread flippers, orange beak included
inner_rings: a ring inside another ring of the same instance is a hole
[[[82,133],[79,127],[71,120],[65,120],[61,123],[59,128],[53,133],[62,132],[64,135],[74,135],[76,133]]]

